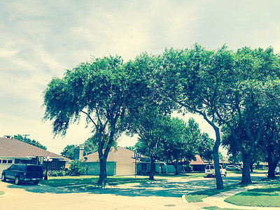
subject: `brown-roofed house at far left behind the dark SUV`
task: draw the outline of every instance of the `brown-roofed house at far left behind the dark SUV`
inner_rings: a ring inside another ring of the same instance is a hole
[[[52,162],[48,163],[49,170],[59,170],[68,161],[55,153],[45,151],[42,148],[32,146],[13,138],[0,138],[0,174],[3,169],[14,163],[31,163],[46,166],[44,158],[50,157]]]

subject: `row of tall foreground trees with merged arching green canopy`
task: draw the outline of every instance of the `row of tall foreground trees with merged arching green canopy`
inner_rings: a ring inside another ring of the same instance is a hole
[[[172,123],[174,111],[196,113],[216,134],[217,188],[223,188],[218,170],[222,138],[230,151],[241,153],[241,182],[251,183],[250,164],[258,146],[266,153],[269,176],[272,162],[279,161],[272,155],[272,148],[279,145],[279,66],[279,55],[271,47],[234,51],[223,45],[207,50],[197,43],[160,55],[144,52],[128,62],[119,56],[93,57],[48,83],[43,92],[44,119],[52,121],[55,135],[63,136],[71,123],[86,116],[98,146],[99,183],[104,184],[106,158],[121,134],[137,133],[141,144],[156,148],[155,136],[171,137],[163,128],[152,131],[152,127],[165,120]],[[153,158],[153,149],[147,151]]]

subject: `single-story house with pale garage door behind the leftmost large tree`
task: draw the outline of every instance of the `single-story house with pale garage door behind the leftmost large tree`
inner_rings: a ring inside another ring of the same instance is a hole
[[[83,149],[83,148],[80,148]],[[78,154],[78,152],[76,152]],[[82,154],[82,153],[80,153]],[[127,148],[117,147],[111,148],[109,152],[106,169],[107,175],[109,176],[124,176],[124,175],[135,175],[135,170],[137,174],[146,174],[150,171],[150,158],[141,155],[137,159],[137,169],[135,167],[135,153],[134,151],[130,151]],[[85,165],[87,175],[99,175],[99,155],[98,152],[92,153],[90,155],[86,155],[83,158],[76,159],[84,159],[83,163]],[[160,162],[156,162],[155,171],[161,172]]]

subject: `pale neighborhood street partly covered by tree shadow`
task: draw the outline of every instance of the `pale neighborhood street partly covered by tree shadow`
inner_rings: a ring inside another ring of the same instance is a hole
[[[252,174],[252,181],[258,181],[265,174]],[[239,183],[241,174],[223,177],[225,185]],[[0,209],[195,209],[182,200],[182,195],[195,190],[214,188],[215,179],[170,178],[162,183],[142,183],[71,192],[64,188],[34,186],[13,182],[0,182]]]

